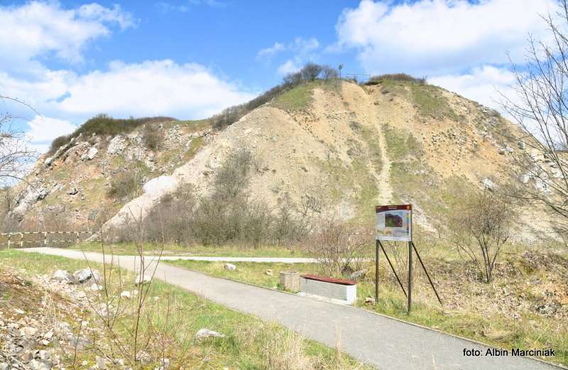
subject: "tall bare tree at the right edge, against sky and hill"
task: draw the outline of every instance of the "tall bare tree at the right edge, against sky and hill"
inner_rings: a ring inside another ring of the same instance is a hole
[[[568,4],[543,16],[548,41],[529,39],[526,65],[515,72],[515,94],[503,95],[503,108],[526,131],[512,157],[520,185],[512,194],[556,214],[559,232],[568,232]]]

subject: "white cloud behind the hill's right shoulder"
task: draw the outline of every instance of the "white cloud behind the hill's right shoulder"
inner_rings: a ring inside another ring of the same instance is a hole
[[[456,75],[441,75],[428,79],[433,85],[438,85],[457,92],[463,97],[501,111],[501,94],[515,97],[513,85],[515,75],[506,68],[484,65],[476,67],[471,72]]]

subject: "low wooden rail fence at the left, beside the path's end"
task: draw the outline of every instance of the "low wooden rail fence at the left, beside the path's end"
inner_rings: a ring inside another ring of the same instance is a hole
[[[11,249],[50,244],[78,244],[94,234],[97,232],[4,232],[0,233],[0,249],[4,246]]]

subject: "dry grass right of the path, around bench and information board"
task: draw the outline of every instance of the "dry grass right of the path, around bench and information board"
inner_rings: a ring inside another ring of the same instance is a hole
[[[420,245],[419,245],[420,246]],[[400,278],[404,273],[407,249],[386,246]],[[406,300],[381,253],[378,305],[364,305],[374,296],[375,269],[367,262],[366,277],[359,282],[357,305],[402,320],[416,322],[501,348],[554,348],[557,356],[547,361],[568,364],[568,256],[552,251],[507,246],[497,263],[493,283],[479,280],[471,262],[443,245],[421,249],[444,306],[437,302],[417,261],[414,269],[414,305],[408,315]],[[278,285],[278,273],[285,270],[320,273],[317,264],[234,263],[236,271],[226,271],[222,263],[175,261],[197,271],[231,278],[267,288]],[[266,270],[273,270],[273,276]]]

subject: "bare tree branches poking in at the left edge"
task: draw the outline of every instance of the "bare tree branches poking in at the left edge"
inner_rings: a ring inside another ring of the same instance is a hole
[[[18,99],[0,95],[0,101],[6,100],[23,104],[35,111]],[[26,146],[23,132],[13,129],[13,118],[9,113],[0,114],[0,181],[5,183],[22,180],[28,165],[35,158],[33,151]]]

